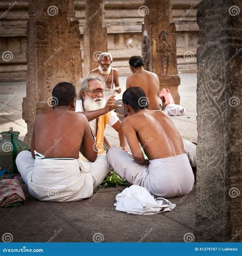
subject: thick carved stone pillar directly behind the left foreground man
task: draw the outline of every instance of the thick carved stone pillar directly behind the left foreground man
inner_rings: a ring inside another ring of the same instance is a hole
[[[22,118],[28,124],[25,142],[30,145],[37,114],[50,108],[58,82],[71,82],[79,92],[82,77],[79,22],[74,0],[29,0],[27,25],[27,95]]]

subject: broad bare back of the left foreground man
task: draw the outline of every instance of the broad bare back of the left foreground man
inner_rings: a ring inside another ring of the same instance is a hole
[[[85,147],[84,155],[93,156],[93,143],[88,121],[81,113],[56,109],[44,111],[36,117],[31,142],[32,156],[35,150],[45,157],[78,159],[81,146]]]

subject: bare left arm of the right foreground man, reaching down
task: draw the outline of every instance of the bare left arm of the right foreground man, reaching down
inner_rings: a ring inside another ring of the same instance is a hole
[[[140,164],[140,165],[146,164],[147,165],[148,161],[146,161],[143,157],[143,153],[139,146],[139,141],[138,141],[138,138],[136,135],[136,131],[135,131],[133,125],[131,124],[130,120],[128,120],[128,119],[129,119],[129,117],[126,117],[125,119],[123,119],[122,129],[127,138],[130,150],[132,152],[132,156],[138,164]]]

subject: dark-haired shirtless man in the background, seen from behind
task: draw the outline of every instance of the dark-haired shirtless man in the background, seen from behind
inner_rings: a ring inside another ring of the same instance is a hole
[[[160,99],[158,97],[160,82],[158,76],[153,72],[144,70],[141,56],[132,56],[129,60],[129,65],[133,74],[127,78],[126,89],[130,87],[142,88],[148,97],[149,110],[158,110],[160,108]]]

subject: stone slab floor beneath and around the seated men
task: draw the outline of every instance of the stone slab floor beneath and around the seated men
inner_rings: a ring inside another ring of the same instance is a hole
[[[196,74],[180,74],[181,105],[186,114],[172,117],[183,138],[197,141]],[[120,77],[125,88],[126,77]],[[13,126],[26,134],[26,123],[21,118],[21,101],[25,96],[24,82],[1,84],[0,131]],[[12,96],[11,96],[12,95]],[[117,134],[107,127],[111,145],[118,145]],[[26,204],[0,209],[0,237],[6,232],[14,242],[183,242],[184,235],[195,226],[196,190],[189,195],[170,199],[177,206],[170,212],[152,216],[128,215],[115,210],[115,196],[124,187],[96,189],[94,199],[79,202],[50,203],[32,198],[24,184]]]

